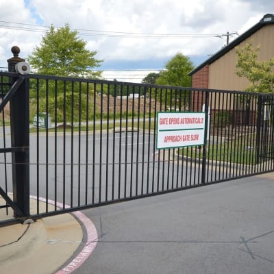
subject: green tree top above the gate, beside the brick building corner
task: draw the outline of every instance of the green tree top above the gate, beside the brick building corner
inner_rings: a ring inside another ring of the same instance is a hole
[[[191,86],[191,78],[188,73],[194,69],[190,59],[182,53],[177,53],[165,66],[166,71],[160,72],[156,84],[168,86]]]

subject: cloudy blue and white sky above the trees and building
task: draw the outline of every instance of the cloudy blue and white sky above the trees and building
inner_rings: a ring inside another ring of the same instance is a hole
[[[11,47],[27,58],[51,24],[77,29],[86,48],[103,60],[105,79],[141,82],[176,53],[201,64],[274,13],[269,0],[0,0],[0,67]]]

